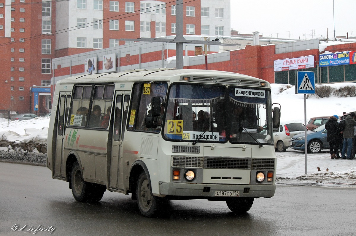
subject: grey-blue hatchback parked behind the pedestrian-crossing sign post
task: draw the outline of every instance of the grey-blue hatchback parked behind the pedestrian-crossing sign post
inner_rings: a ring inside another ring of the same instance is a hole
[[[329,149],[329,142],[326,142],[328,130],[325,129],[325,124],[316,127],[314,130],[307,132],[307,152],[320,153],[323,149]],[[294,150],[304,151],[304,133],[295,135],[290,143],[290,148]]]

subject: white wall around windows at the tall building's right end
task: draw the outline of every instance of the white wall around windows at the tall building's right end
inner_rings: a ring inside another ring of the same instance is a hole
[[[230,0],[201,0],[200,4],[201,7],[209,7],[209,17],[201,17],[201,24],[209,26],[209,34],[215,35],[215,26],[223,26],[223,36],[230,36]],[[215,17],[215,8],[224,9],[223,18]],[[197,34],[200,34],[200,32]]]

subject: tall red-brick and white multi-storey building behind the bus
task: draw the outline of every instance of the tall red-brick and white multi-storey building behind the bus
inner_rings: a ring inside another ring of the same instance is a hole
[[[183,24],[187,35],[229,36],[230,0],[183,0]],[[31,91],[51,84],[55,58],[175,34],[174,1],[0,1],[0,110],[48,112],[50,93]]]

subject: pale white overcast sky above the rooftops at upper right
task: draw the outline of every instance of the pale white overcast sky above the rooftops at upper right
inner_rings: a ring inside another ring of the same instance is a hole
[[[356,0],[334,0],[335,35],[356,36]],[[231,0],[231,28],[263,37],[334,37],[333,0]],[[313,36],[315,34],[315,36]]]

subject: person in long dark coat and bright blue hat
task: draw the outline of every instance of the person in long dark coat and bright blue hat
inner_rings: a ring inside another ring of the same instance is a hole
[[[330,145],[330,158],[339,159],[339,142],[340,142],[340,127],[337,120],[339,117],[330,116],[329,121],[325,124],[325,129],[328,130],[326,141]],[[337,156],[336,156],[337,153]]]

